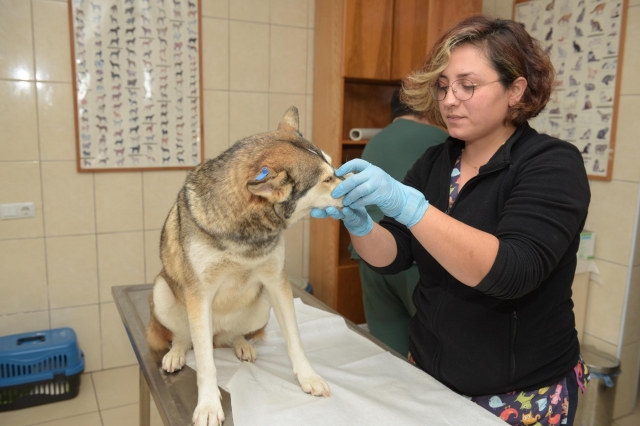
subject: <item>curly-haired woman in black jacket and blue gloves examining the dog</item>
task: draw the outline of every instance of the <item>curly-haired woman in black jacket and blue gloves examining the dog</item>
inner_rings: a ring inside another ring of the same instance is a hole
[[[571,302],[590,192],[573,145],[527,120],[554,82],[544,50],[513,21],[468,18],[404,82],[404,100],[447,128],[403,183],[360,159],[337,170],[340,218],[369,266],[418,265],[411,360],[509,424],[571,425],[580,359]],[[364,209],[385,214],[380,225]]]

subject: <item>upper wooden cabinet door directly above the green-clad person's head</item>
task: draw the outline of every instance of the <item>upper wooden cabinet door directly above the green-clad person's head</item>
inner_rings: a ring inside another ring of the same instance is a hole
[[[391,80],[402,80],[427,54],[430,0],[395,0]]]

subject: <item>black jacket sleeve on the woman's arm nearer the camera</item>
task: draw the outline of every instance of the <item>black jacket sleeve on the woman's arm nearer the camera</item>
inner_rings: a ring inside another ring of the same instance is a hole
[[[495,231],[495,263],[476,286],[501,299],[523,297],[560,262],[575,262],[590,200],[582,155],[572,144],[540,136],[517,167]]]

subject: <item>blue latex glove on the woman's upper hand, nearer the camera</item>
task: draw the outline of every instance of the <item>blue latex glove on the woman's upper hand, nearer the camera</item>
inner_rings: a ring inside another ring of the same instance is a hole
[[[331,196],[340,198],[352,210],[375,204],[386,216],[411,228],[422,219],[429,202],[417,189],[403,185],[380,167],[356,158],[343,164],[336,175],[355,172],[338,185]]]

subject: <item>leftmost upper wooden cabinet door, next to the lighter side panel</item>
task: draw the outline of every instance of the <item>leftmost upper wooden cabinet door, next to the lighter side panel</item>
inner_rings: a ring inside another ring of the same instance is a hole
[[[393,0],[346,0],[344,76],[388,80]]]

